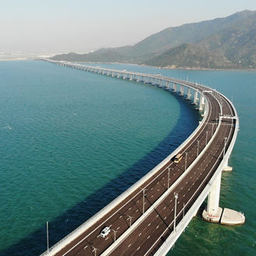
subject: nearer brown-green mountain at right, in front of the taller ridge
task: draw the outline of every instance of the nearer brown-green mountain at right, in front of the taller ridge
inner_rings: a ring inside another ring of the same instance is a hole
[[[256,68],[256,13],[196,44],[180,44],[144,62],[151,66]]]

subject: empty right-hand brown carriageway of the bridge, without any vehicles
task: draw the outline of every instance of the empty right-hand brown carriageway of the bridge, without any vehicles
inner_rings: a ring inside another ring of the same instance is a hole
[[[230,109],[227,108],[226,112],[229,111]],[[175,190],[173,190],[173,192],[179,194],[177,201],[177,222],[180,222],[181,218],[179,217],[183,216],[183,209],[184,213],[187,212],[187,208],[183,208],[183,205],[191,201],[191,198],[196,199],[197,194],[201,193],[204,185],[208,183],[208,180],[210,180],[210,177],[215,172],[216,168],[212,169],[212,167],[214,165],[218,166],[215,163],[221,161],[221,159],[216,159],[215,155],[222,155],[223,138],[232,137],[232,130],[229,129],[229,126],[222,125],[222,129],[219,130],[218,135],[212,147],[187,174],[187,178],[183,179]],[[208,170],[210,170],[210,172]],[[201,189],[198,190],[198,187]],[[196,194],[194,190],[197,190]],[[122,244],[119,244],[119,247],[117,247],[115,251],[112,251],[111,255],[147,255],[150,254],[151,251],[154,251],[155,240],[160,240],[161,244],[165,240],[165,235],[168,235],[173,230],[174,203],[174,194],[171,192],[169,196],[158,205],[158,208],[151,213],[150,217],[145,219],[140,226],[137,226],[137,229],[133,230],[133,233],[131,233]],[[167,223],[172,224],[169,226]]]

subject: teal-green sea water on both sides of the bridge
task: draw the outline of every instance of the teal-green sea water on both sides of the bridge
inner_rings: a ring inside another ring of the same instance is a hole
[[[256,72],[95,64],[194,80],[233,100],[240,132],[220,206],[243,226],[194,218],[168,255],[256,254]],[[144,176],[196,128],[159,88],[38,61],[0,62],[0,255],[39,255]]]

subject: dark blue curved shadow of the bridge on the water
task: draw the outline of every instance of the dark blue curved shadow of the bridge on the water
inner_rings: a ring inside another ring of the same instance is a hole
[[[180,104],[180,117],[172,131],[144,158],[141,158],[114,180],[110,180],[104,187],[101,187],[97,192],[85,198],[84,201],[81,201],[73,208],[56,217],[52,222],[49,222],[50,246],[56,244],[62,237],[72,232],[73,229],[76,229],[76,227],[91,218],[91,216],[114,200],[119,194],[122,194],[133,183],[140,180],[142,176],[153,169],[155,165],[158,165],[194,131],[200,118],[198,112],[190,104],[191,101],[179,100],[180,96],[177,94],[174,94],[174,97],[178,99]],[[18,243],[1,251],[0,255],[36,256],[46,251],[46,249],[46,227],[44,225]]]

